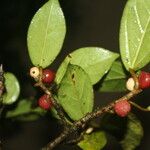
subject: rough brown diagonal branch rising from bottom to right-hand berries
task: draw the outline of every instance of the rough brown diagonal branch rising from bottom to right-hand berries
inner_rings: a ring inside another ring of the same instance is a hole
[[[75,121],[72,124],[72,126],[70,126],[69,128],[65,128],[65,130],[56,139],[54,139],[52,142],[49,142],[47,144],[47,146],[45,148],[43,148],[43,150],[52,150],[54,147],[56,147],[58,144],[60,144],[62,141],[64,141],[68,137],[68,135],[70,135],[77,129],[82,128],[83,124],[87,124],[90,120],[97,118],[100,115],[102,115],[103,113],[109,112],[110,110],[112,110],[117,101],[125,100],[125,99],[130,100],[132,97],[136,96],[140,92],[142,92],[141,89],[135,89],[135,90],[129,92],[128,94],[126,94],[125,96],[108,104],[105,107],[97,108],[95,111],[93,111],[91,113],[87,113],[83,118],[81,118],[78,121]]]

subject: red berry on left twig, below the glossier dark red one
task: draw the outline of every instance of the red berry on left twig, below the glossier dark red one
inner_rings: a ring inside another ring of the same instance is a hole
[[[52,107],[52,101],[47,94],[44,94],[39,98],[38,104],[41,108],[45,110],[48,110]]]

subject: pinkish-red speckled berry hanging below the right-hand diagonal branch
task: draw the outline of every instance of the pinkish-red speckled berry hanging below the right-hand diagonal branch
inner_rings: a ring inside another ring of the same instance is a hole
[[[131,111],[131,104],[127,100],[116,102],[114,106],[116,114],[120,117],[125,117]]]

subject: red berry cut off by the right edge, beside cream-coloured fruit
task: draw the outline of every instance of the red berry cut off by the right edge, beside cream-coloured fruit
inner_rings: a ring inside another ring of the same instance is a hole
[[[150,73],[142,71],[138,79],[139,79],[139,87],[141,89],[150,87]]]

